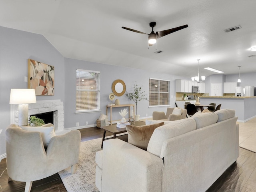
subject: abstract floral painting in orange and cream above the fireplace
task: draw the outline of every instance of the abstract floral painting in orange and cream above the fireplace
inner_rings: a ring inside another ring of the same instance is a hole
[[[54,66],[28,59],[28,88],[36,95],[54,95]]]

